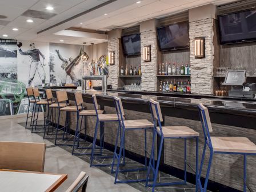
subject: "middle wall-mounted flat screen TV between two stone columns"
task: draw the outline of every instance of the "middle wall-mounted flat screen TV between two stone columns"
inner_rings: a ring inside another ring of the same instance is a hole
[[[189,48],[189,22],[179,22],[166,27],[157,28],[160,50]]]

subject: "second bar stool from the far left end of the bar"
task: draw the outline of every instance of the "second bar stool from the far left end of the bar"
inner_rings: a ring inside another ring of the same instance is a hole
[[[35,121],[35,130],[37,129],[37,126],[43,126],[43,129],[46,129],[46,121],[47,121],[47,114],[45,110],[45,106],[49,105],[49,101],[45,99],[40,100],[40,94],[38,88],[33,89],[33,95],[34,95],[34,101],[35,101],[35,108],[34,108],[34,118],[33,118],[33,125],[31,129],[31,133],[41,133],[42,131],[33,131],[34,129],[34,121]],[[50,101],[51,102],[51,101]],[[38,114],[40,107],[43,106],[41,109],[43,109],[43,125],[37,125],[38,121]],[[35,113],[37,113],[37,119],[35,119]]]

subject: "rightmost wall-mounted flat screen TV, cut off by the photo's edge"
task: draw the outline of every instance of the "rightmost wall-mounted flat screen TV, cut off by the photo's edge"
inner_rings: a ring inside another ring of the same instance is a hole
[[[218,15],[222,45],[256,41],[256,9]]]

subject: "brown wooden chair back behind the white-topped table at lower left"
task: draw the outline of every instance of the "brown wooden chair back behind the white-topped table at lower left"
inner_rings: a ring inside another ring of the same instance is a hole
[[[0,142],[0,169],[43,172],[46,143]]]

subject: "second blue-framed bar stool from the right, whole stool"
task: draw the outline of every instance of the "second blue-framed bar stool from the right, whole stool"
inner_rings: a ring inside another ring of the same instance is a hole
[[[154,122],[154,128],[155,133],[153,135],[153,143],[152,143],[152,149],[151,149],[151,155],[150,155],[150,161],[149,161],[149,167],[147,170],[147,181],[146,181],[146,187],[152,186],[152,191],[155,190],[155,186],[168,186],[168,185],[185,185],[187,182],[187,139],[189,138],[195,138],[196,139],[196,155],[195,155],[195,185],[196,189],[195,191],[198,191],[198,185],[197,185],[197,170],[198,170],[198,137],[199,133],[194,131],[193,129],[190,129],[186,126],[162,126],[161,122],[163,121],[161,108],[159,105],[159,102],[154,101],[153,99],[150,100],[150,110],[152,114],[152,119]],[[159,126],[157,126],[159,125]],[[158,155],[157,155],[157,165],[154,166],[154,146],[155,146],[155,134],[159,135],[161,137],[161,142],[159,145]],[[162,146],[165,139],[184,139],[185,145],[184,145],[184,181],[182,182],[166,182],[166,183],[157,183],[157,176],[158,176],[158,169],[159,169],[159,163],[162,153]],[[150,170],[153,172],[153,184],[149,184],[149,174]]]

